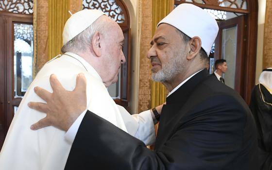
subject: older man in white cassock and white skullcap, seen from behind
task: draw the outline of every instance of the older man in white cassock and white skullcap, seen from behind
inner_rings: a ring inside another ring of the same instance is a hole
[[[73,123],[67,134],[52,126],[37,131],[30,129],[46,114],[30,109],[27,103],[44,102],[34,93],[34,87],[52,92],[51,74],[55,74],[67,90],[73,90],[77,75],[84,73],[88,110],[146,144],[155,139],[151,112],[130,116],[115,104],[106,89],[118,80],[120,65],[125,62],[124,37],[119,25],[99,10],[83,10],[66,22],[63,41],[64,54],[44,65],[19,105],[0,152],[0,170],[64,169],[80,123]]]

